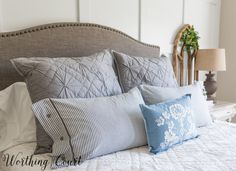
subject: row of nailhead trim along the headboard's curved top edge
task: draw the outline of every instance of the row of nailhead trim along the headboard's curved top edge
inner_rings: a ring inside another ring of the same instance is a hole
[[[127,38],[129,38],[129,39],[131,39],[131,40],[133,40],[133,41],[135,41],[139,44],[144,45],[144,46],[148,46],[148,47],[152,47],[152,48],[159,48],[159,46],[151,45],[151,44],[148,44],[148,43],[143,43],[141,41],[138,41],[138,40],[132,38],[131,36],[121,32],[119,30],[116,30],[116,29],[113,29],[113,28],[110,28],[110,27],[107,27],[107,26],[102,26],[102,25],[99,25],[99,24],[92,24],[92,23],[53,23],[53,24],[46,24],[46,25],[40,25],[40,26],[36,26],[36,27],[23,29],[23,30],[20,30],[20,31],[0,33],[0,38],[14,37],[14,36],[27,34],[27,33],[38,32],[38,31],[42,31],[42,30],[54,29],[54,28],[59,28],[59,27],[95,27],[95,28],[111,31],[111,32],[116,33],[116,34],[120,34],[120,35],[122,35],[124,37],[127,37]]]

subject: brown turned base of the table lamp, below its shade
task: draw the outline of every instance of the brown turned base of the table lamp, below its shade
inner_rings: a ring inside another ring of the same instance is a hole
[[[204,81],[204,86],[207,92],[207,100],[215,101],[215,92],[217,90],[217,82],[214,79],[215,74],[212,74],[211,71],[206,74],[206,80]]]

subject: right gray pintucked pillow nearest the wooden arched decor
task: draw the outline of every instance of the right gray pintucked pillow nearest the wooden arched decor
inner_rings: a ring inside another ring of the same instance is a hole
[[[177,87],[170,59],[129,56],[113,51],[119,75],[119,81],[124,92],[141,84],[159,87]]]

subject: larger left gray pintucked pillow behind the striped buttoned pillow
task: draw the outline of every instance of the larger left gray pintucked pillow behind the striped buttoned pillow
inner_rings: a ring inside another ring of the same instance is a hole
[[[33,103],[45,98],[91,98],[121,93],[108,50],[89,57],[16,58],[11,60],[24,76]],[[51,152],[52,140],[37,125],[37,153]]]

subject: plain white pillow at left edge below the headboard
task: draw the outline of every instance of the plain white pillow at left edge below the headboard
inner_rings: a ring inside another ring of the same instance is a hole
[[[34,141],[36,126],[26,84],[14,83],[0,91],[0,151]]]

